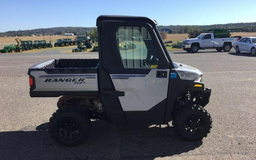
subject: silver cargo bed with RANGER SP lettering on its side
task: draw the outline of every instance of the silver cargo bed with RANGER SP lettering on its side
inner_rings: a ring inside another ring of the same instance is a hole
[[[31,97],[97,93],[99,59],[54,59],[28,69]]]

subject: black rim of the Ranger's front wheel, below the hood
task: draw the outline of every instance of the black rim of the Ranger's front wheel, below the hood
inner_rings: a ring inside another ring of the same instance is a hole
[[[199,116],[190,116],[184,122],[183,129],[188,135],[198,135],[204,130],[204,121]]]

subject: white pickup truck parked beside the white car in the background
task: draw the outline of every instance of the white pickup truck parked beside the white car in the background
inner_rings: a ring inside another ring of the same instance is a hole
[[[223,50],[229,52],[239,38],[214,38],[213,33],[204,33],[196,38],[184,39],[182,49],[187,52],[198,52],[199,49],[216,49],[218,52]]]

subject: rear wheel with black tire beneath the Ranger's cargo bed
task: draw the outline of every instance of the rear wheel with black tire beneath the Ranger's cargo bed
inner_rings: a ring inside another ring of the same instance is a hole
[[[49,132],[64,146],[82,143],[91,129],[91,120],[82,107],[61,107],[49,120]]]

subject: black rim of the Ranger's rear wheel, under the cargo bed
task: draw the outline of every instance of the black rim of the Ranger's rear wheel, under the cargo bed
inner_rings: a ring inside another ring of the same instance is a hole
[[[65,140],[74,140],[81,133],[81,124],[73,118],[65,118],[58,122],[57,132]]]

